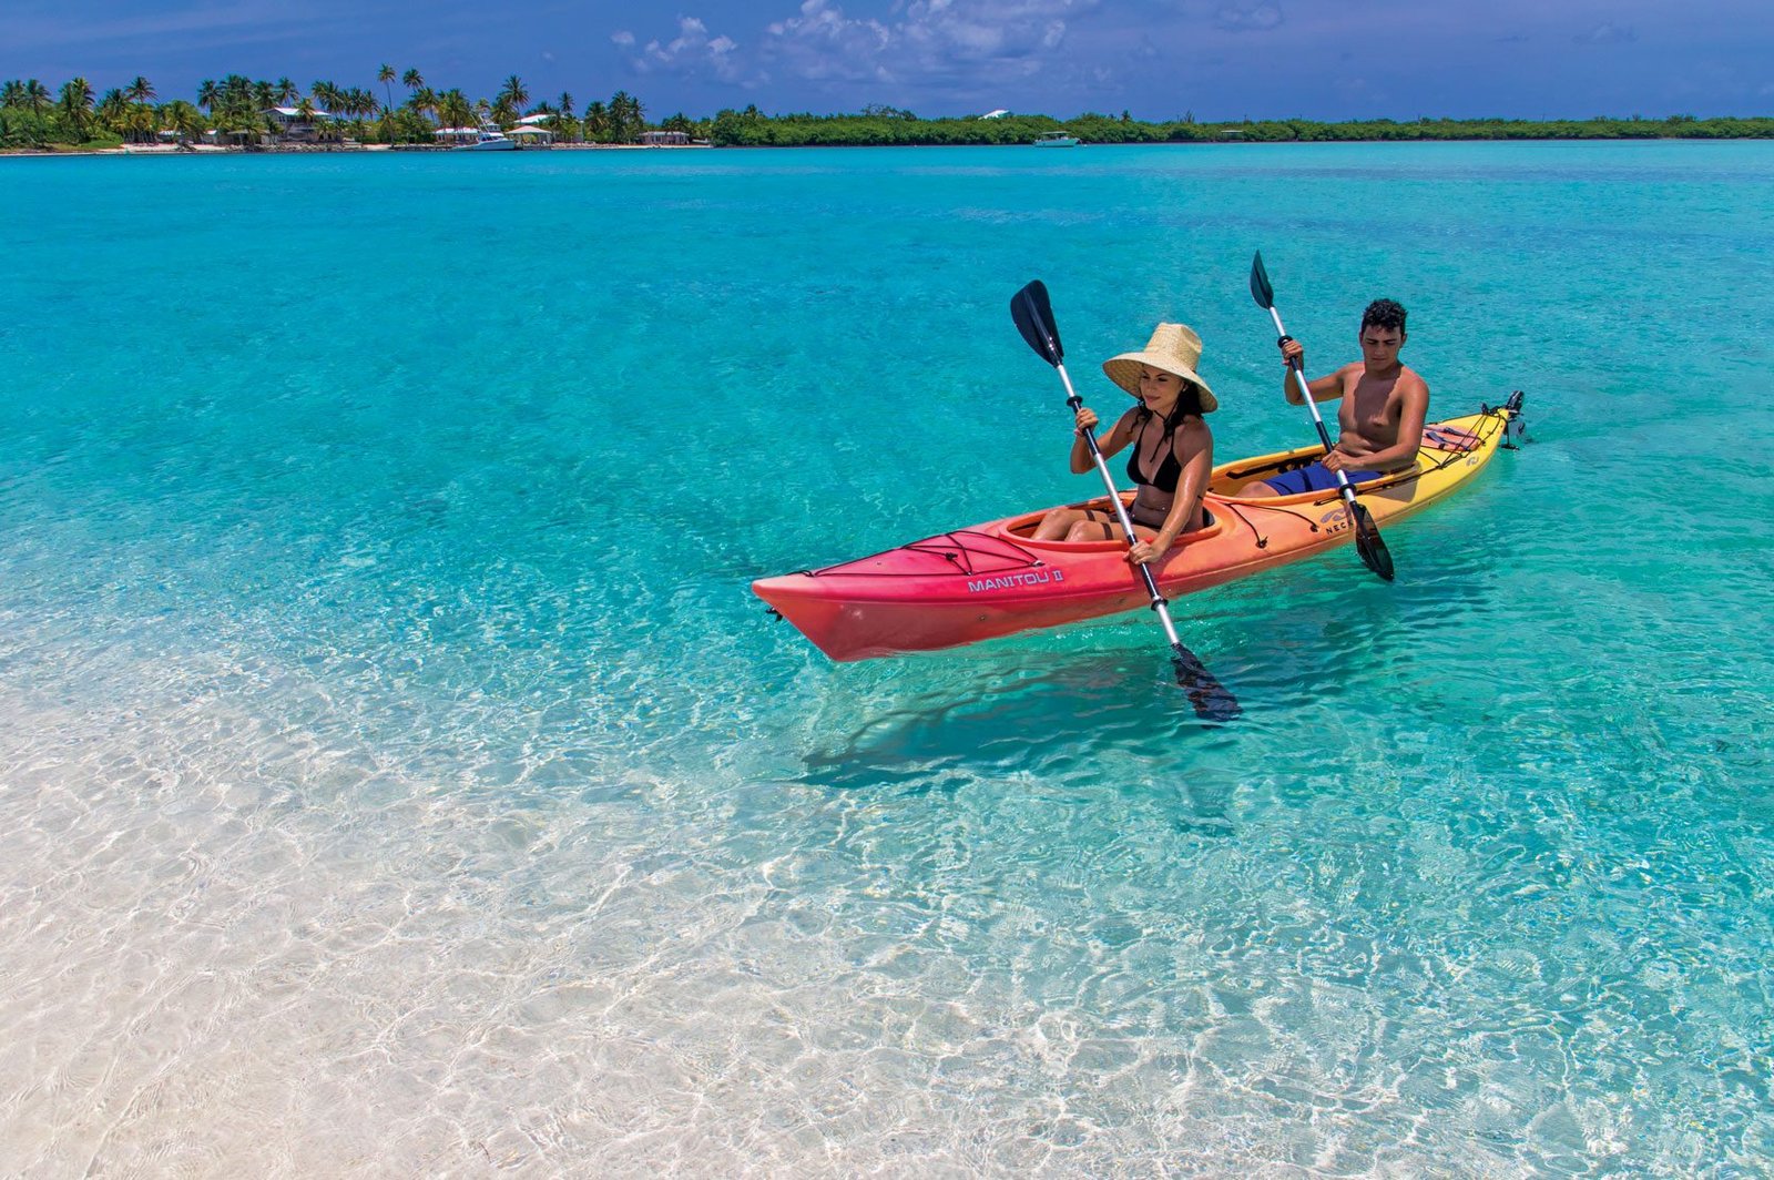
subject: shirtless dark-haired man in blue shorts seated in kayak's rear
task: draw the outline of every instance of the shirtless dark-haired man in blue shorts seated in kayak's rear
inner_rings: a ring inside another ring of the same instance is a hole
[[[1398,360],[1405,346],[1405,309],[1393,300],[1375,300],[1361,316],[1361,360],[1329,376],[1307,382],[1313,401],[1343,399],[1338,408],[1338,442],[1325,458],[1274,479],[1258,479],[1240,488],[1242,497],[1299,495],[1336,490],[1336,474],[1366,483],[1407,470],[1423,445],[1423,419],[1430,410],[1430,387],[1416,371]],[[1281,337],[1281,357],[1304,371],[1306,348],[1291,335]],[[1288,405],[1306,405],[1300,387],[1288,373],[1283,378]]]

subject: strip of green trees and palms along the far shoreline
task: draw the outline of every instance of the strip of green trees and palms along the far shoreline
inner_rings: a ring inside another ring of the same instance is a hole
[[[394,83],[406,89],[404,98]],[[1066,131],[1086,144],[1277,144],[1348,140],[1613,140],[1613,138],[1774,138],[1774,119],[1361,119],[1318,122],[1311,119],[1261,119],[1196,122],[1192,114],[1171,122],[1144,122],[1126,112],[1084,114],[1075,119],[1048,115],[999,115],[965,119],[919,119],[910,110],[866,106],[855,115],[788,114],[766,115],[756,106],[722,110],[713,119],[674,114],[649,124],[640,99],[617,90],[605,101],[587,103],[575,115],[573,96],[561,94],[530,106],[529,87],[516,75],[500,83],[491,99],[470,99],[459,89],[438,90],[417,69],[376,71],[381,96],[373,87],[339,87],[314,82],[307,92],[289,78],[277,82],[227,75],[197,87],[195,103],[156,103],[154,85],[135,78],[130,85],[94,96],[85,78],[71,78],[51,92],[30,80],[0,83],[0,149],[94,149],[117,144],[188,144],[215,133],[222,144],[261,144],[279,138],[296,142],[433,144],[440,126],[493,122],[504,130],[523,117],[545,115],[543,126],[562,142],[635,144],[642,131],[683,131],[717,147],[880,147],[880,146],[990,146],[1031,144],[1043,131]],[[396,101],[399,98],[399,101]],[[271,108],[293,110],[280,121]]]

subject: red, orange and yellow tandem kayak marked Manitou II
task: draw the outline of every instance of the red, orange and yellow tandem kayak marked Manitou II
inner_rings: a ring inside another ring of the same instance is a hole
[[[1506,445],[1522,397],[1433,422],[1407,470],[1357,484],[1380,525],[1433,504],[1478,476]],[[1519,431],[1519,426],[1517,426]],[[1336,492],[1242,499],[1252,479],[1295,470],[1323,447],[1277,451],[1213,468],[1208,525],[1176,539],[1153,566],[1166,598],[1350,543]],[[1123,493],[1130,499],[1132,493]],[[1071,507],[1102,507],[1098,497]],[[1036,541],[1050,509],[940,532],[873,557],[752,582],[752,593],[834,660],[866,660],[1079,623],[1150,605],[1125,541]]]

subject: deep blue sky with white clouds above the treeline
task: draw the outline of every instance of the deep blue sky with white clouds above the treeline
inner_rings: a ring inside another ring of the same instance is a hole
[[[1767,0],[0,0],[0,78],[161,99],[376,66],[534,99],[1142,119],[1774,114]],[[380,87],[378,87],[380,89]]]

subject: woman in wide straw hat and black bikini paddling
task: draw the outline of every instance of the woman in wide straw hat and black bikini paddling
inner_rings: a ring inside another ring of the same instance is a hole
[[[1139,539],[1126,559],[1135,564],[1162,559],[1178,536],[1205,523],[1201,495],[1213,470],[1213,435],[1201,415],[1217,410],[1219,399],[1196,373],[1197,364],[1201,337],[1180,323],[1160,323],[1144,351],[1103,362],[1109,380],[1139,401],[1098,440],[1105,456],[1134,444],[1126,474],[1137,493],[1128,516]],[[1073,474],[1093,467],[1084,431],[1096,422],[1089,406],[1079,406]],[[1040,541],[1103,541],[1116,534],[1114,511],[1102,507],[1056,507],[1034,531]]]

